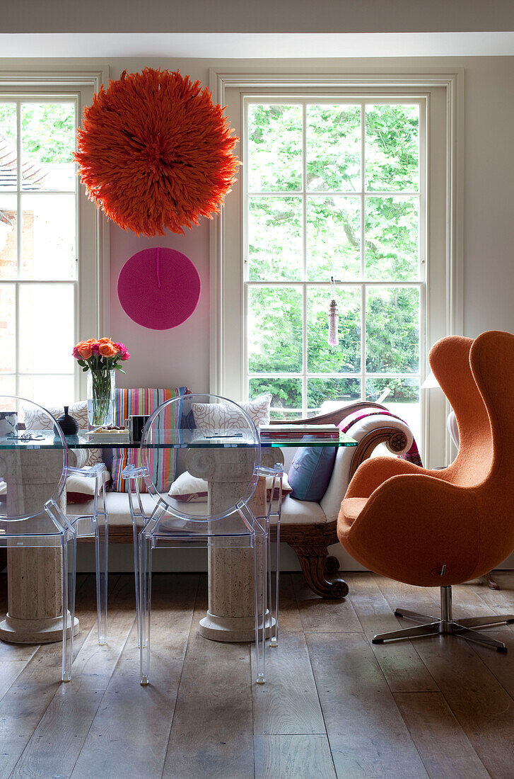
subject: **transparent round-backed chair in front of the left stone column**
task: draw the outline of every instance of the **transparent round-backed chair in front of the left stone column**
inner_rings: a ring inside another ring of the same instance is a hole
[[[23,407],[36,407],[44,427],[16,429]],[[64,501],[68,447],[54,418],[43,407],[18,397],[0,397],[0,410],[14,412],[10,430],[0,428],[0,545],[8,550],[8,565],[44,565],[45,551],[61,550],[62,573],[62,681],[72,679],[73,626],[75,625],[76,533],[61,509]],[[27,550],[40,554],[28,555]],[[51,554],[53,558],[54,555]],[[34,592],[37,597],[37,592]],[[9,597],[10,601],[10,597]],[[9,608],[11,608],[9,602]],[[11,617],[12,619],[12,617]],[[6,617],[9,625],[9,612]],[[15,624],[15,619],[12,619]]]

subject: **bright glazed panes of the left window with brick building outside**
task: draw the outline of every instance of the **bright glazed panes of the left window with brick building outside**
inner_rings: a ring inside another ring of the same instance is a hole
[[[74,100],[0,98],[0,394],[75,397]]]

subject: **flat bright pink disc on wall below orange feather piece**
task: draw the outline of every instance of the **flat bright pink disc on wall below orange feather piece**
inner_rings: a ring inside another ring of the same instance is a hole
[[[198,270],[191,259],[162,247],[132,255],[117,280],[124,312],[149,330],[169,330],[189,319],[200,290]]]

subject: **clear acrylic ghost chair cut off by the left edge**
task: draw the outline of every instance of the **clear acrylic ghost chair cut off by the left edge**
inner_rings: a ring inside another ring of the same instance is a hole
[[[25,429],[29,419],[30,429]],[[61,619],[64,681],[71,678],[75,609],[75,530],[65,516],[67,467],[66,440],[51,414],[30,400],[0,397],[0,545],[7,548],[9,581],[15,570],[21,572],[16,587],[9,586],[6,622],[14,628],[21,624],[17,619],[38,619],[45,577],[37,572],[57,566],[62,601],[58,593],[54,619],[67,617]]]

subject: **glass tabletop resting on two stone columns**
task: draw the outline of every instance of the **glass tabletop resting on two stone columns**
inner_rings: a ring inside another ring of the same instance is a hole
[[[227,447],[254,446],[254,442],[246,438],[244,432],[213,431],[206,435],[198,430],[166,430],[155,432],[152,442],[147,446],[153,449],[226,449]],[[69,449],[138,449],[140,441],[132,441],[128,435],[103,434],[94,435],[87,430],[79,430],[77,435],[66,435]],[[289,446],[357,446],[357,442],[346,433],[340,433],[339,439],[316,438],[313,435],[291,437],[281,435],[272,439],[261,437],[260,446],[263,449],[284,449]],[[61,441],[54,438],[48,430],[19,431],[16,438],[0,437],[0,449],[60,449]]]

